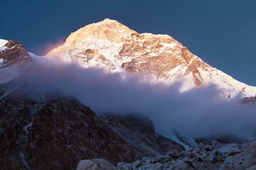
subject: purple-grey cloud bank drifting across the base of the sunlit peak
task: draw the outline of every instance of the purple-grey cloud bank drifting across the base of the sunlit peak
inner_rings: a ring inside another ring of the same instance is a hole
[[[256,105],[241,104],[239,97],[223,98],[213,84],[180,93],[180,83],[167,86],[76,64],[36,68],[26,74],[33,94],[74,96],[97,114],[141,113],[153,120],[157,132],[175,130],[191,137],[256,135]]]

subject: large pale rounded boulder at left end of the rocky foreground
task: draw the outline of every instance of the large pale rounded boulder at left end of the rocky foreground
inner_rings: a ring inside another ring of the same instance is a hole
[[[87,159],[82,160],[78,164],[77,170],[117,170],[110,162],[105,159]]]

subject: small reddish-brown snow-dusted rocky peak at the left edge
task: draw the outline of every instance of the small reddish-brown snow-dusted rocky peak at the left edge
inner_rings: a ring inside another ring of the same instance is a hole
[[[26,48],[21,45],[21,42],[9,40],[3,44],[0,47],[0,68],[18,66],[32,61],[31,56]]]

